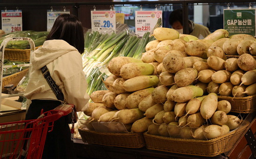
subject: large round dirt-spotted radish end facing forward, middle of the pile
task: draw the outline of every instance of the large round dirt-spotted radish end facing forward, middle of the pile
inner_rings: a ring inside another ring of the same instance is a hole
[[[185,69],[186,63],[180,55],[171,53],[167,54],[163,58],[163,66],[166,71],[174,74],[182,69]]]

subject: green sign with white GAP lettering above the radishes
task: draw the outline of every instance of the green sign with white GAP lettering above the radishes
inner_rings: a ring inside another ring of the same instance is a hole
[[[224,29],[233,34],[256,36],[256,9],[224,9]]]

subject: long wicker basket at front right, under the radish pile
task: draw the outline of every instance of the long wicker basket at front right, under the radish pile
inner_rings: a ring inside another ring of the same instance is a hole
[[[146,132],[144,133],[144,139],[146,147],[151,150],[199,156],[216,156],[230,150],[240,138],[247,125],[239,129],[237,133],[231,131],[222,137],[208,141],[161,137]]]

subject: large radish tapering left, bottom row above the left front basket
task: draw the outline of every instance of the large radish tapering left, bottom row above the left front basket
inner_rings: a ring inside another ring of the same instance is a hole
[[[143,112],[139,108],[127,109],[120,111],[117,115],[117,118],[113,122],[121,122],[123,124],[134,123],[135,121],[143,118]]]

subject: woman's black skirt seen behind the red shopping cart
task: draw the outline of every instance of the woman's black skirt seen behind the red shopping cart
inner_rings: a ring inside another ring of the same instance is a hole
[[[60,104],[61,102],[54,100],[32,100],[26,120],[37,119],[41,109],[44,109],[44,112],[49,111]],[[76,158],[67,117],[61,117],[55,121],[53,131],[47,133],[42,158]]]

